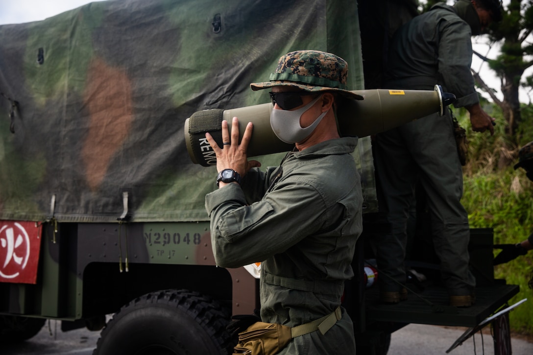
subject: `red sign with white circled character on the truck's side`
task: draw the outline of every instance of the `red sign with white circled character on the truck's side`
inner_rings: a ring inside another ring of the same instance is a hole
[[[0,221],[0,282],[35,284],[42,226]]]

